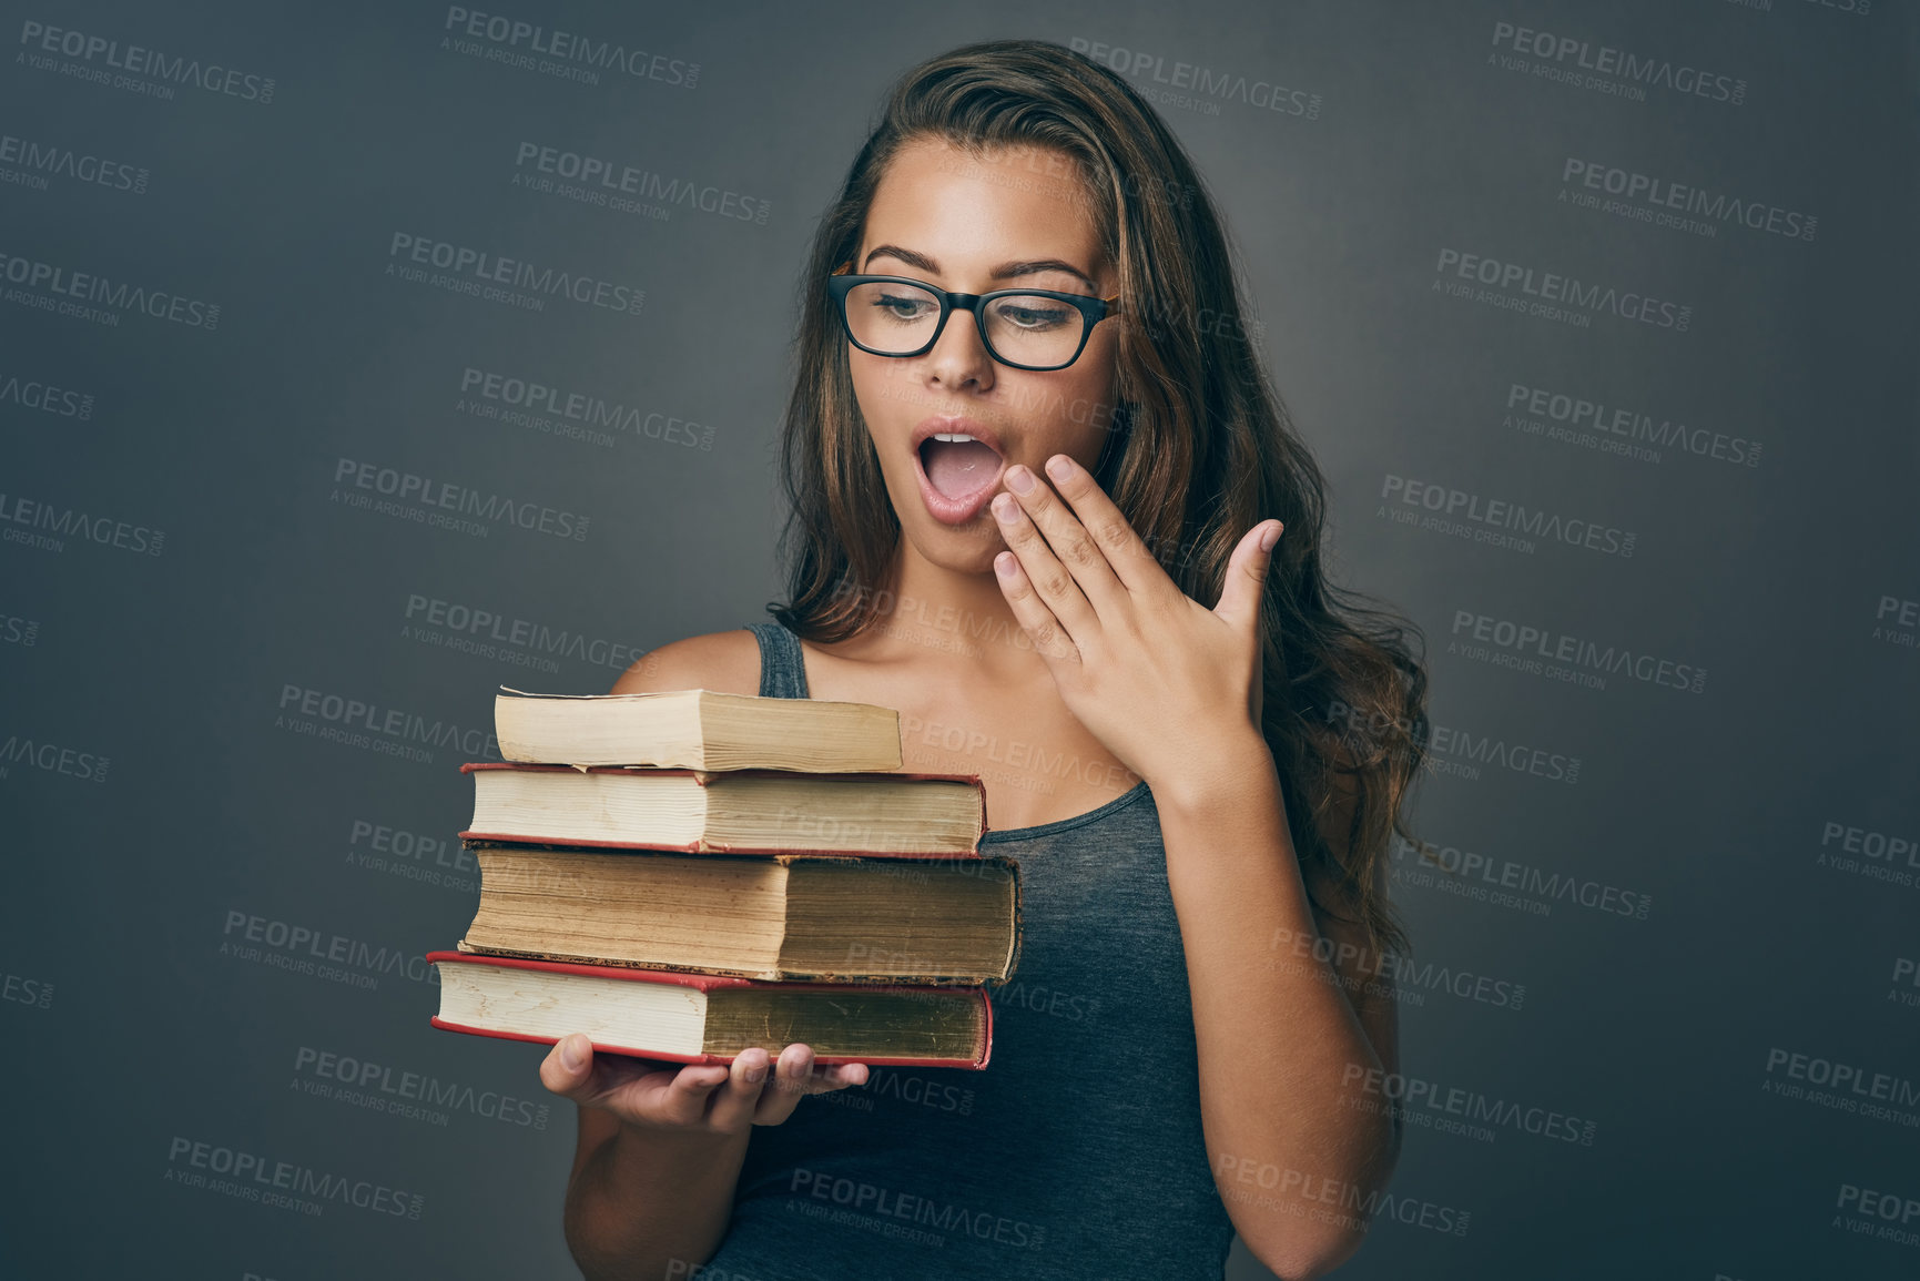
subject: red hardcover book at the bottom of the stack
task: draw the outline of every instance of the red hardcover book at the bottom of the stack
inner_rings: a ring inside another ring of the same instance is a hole
[[[795,1041],[818,1064],[985,1068],[985,987],[760,983],[726,974],[582,966],[522,956],[426,953],[440,972],[434,1027],[553,1045],[584,1031],[595,1051],[726,1064]]]

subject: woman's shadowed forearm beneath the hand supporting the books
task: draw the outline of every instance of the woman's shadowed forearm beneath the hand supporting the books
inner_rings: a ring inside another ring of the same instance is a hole
[[[693,1275],[726,1237],[749,1135],[668,1135],[620,1122],[566,1185],[566,1248],[586,1281]]]

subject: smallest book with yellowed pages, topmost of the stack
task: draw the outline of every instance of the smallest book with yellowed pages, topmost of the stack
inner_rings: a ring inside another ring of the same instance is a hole
[[[900,768],[900,714],[874,703],[768,699],[714,689],[493,697],[499,755],[528,764],[687,770]]]

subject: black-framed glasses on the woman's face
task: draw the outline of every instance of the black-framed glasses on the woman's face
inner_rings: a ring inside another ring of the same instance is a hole
[[[956,294],[910,277],[828,277],[847,342],[874,355],[924,355],[956,307],[973,313],[987,353],[1014,369],[1066,369],[1087,350],[1092,326],[1119,311],[1119,294],[1091,298],[1056,290]]]

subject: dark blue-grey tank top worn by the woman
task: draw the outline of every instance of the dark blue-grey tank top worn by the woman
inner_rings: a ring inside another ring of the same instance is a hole
[[[799,638],[749,624],[760,695],[804,699]],[[756,1125],[699,1281],[1219,1281],[1181,930],[1146,784],[981,851],[1021,878],[1021,955],[985,1070],[868,1068]]]

